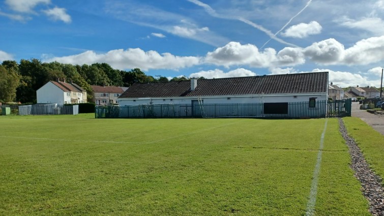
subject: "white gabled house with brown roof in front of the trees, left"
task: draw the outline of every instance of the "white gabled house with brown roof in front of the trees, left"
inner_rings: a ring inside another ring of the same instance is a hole
[[[86,91],[79,85],[70,81],[67,83],[57,78],[49,81],[36,91],[37,103],[79,104],[86,103]]]

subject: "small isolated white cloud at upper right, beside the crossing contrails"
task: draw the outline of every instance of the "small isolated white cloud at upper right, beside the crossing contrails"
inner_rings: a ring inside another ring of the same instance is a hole
[[[310,35],[317,35],[321,33],[321,25],[316,22],[312,21],[310,23],[300,23],[297,25],[292,25],[289,28],[285,30],[285,32],[281,33],[284,37],[291,37],[291,38],[306,38]]]

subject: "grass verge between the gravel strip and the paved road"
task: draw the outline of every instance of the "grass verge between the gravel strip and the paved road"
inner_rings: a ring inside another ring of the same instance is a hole
[[[384,178],[384,136],[360,118],[348,117],[343,120],[348,134],[356,140],[371,168]]]

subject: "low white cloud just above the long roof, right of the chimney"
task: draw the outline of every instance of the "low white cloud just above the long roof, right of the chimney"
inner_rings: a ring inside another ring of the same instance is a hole
[[[204,77],[207,79],[225,78],[225,77],[246,77],[246,76],[256,76],[256,74],[244,68],[238,68],[236,70],[232,70],[227,73],[225,73],[222,70],[215,69],[210,71],[200,71],[200,72],[189,75],[189,77]]]

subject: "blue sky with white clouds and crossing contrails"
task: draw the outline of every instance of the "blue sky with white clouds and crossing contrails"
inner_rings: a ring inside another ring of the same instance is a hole
[[[384,0],[1,0],[0,62],[38,58],[154,77],[329,72],[380,87]]]

